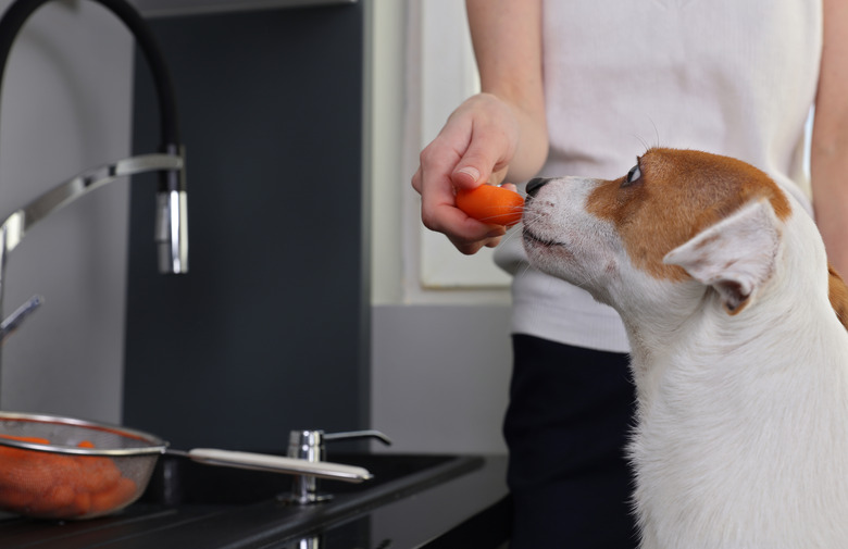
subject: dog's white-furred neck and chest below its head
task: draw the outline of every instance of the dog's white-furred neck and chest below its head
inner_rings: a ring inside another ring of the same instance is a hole
[[[693,547],[687,546],[693,539],[714,538],[715,525],[745,533],[748,521],[768,522],[769,513],[793,516],[797,494],[791,483],[771,482],[770,471],[777,467],[784,474],[814,475],[822,509],[840,509],[839,488],[830,490],[819,478],[848,475],[844,460],[824,461],[820,471],[810,472],[809,456],[848,450],[848,332],[821,297],[823,280],[812,292],[815,298],[809,298],[806,286],[825,276],[822,269],[808,263],[783,271],[797,272],[800,277],[770,280],[757,301],[736,315],[704,291],[702,309],[685,316],[673,337],[645,325],[628,328],[639,417],[628,453],[639,471],[635,501],[644,547]],[[787,452],[790,447],[805,451]],[[763,466],[764,460],[780,465]],[[725,475],[693,481],[723,464],[732,464]],[[675,502],[674,513],[663,511],[668,502]],[[675,513],[703,529],[657,542],[679,532]],[[822,516],[824,523],[837,520]],[[770,529],[771,538],[739,534],[744,542],[727,547],[805,547],[787,541],[784,526],[775,525],[773,534]]]

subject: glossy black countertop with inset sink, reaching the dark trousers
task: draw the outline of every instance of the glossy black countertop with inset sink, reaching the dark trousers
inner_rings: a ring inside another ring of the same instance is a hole
[[[407,457],[406,459],[408,459]],[[403,458],[401,458],[403,459]],[[401,462],[383,456],[388,463]],[[339,460],[340,461],[340,460]],[[356,461],[356,460],[354,460]],[[340,483],[334,501],[307,509],[274,497],[237,502],[204,499],[171,500],[153,494],[104,519],[50,522],[0,515],[3,549],[500,549],[509,538],[504,457],[465,456],[435,460],[424,471],[366,488],[363,500]],[[219,467],[201,470],[219,470]],[[236,470],[224,470],[236,471]],[[375,473],[378,475],[378,473]],[[220,475],[220,474],[219,474]],[[230,475],[226,473],[226,475]],[[286,483],[285,475],[265,475],[269,494]],[[220,486],[226,486],[216,476]],[[210,494],[230,491],[207,483]],[[192,492],[197,490],[192,489]],[[201,490],[202,491],[202,490]]]

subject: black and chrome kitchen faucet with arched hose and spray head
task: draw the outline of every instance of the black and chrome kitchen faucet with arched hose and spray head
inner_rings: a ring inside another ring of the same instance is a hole
[[[0,18],[0,89],[12,43],[21,27],[41,5],[51,0],[16,0]],[[158,153],[119,160],[61,183],[14,211],[0,224],[0,319],[8,254],[21,242],[34,224],[90,191],[120,177],[159,172],[157,190],[155,241],[159,271],[163,274],[188,272],[188,217],[185,162],[179,142],[176,101],[171,75],[153,34],[141,15],[126,0],[92,0],[109,9],[134,35],[153,75],[160,112],[161,146]],[[32,300],[30,300],[32,301]],[[39,301],[40,302],[40,301]],[[5,334],[5,333],[4,333]],[[0,338],[0,341],[2,339]]]

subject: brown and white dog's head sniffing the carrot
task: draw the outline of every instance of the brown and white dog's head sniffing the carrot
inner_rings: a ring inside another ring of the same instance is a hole
[[[739,313],[773,278],[787,221],[801,215],[763,172],[693,150],[650,149],[613,180],[534,179],[527,194],[531,262],[625,322],[628,313],[684,312],[704,294]],[[802,225],[815,233],[811,221]],[[808,259],[819,261],[813,238]]]

